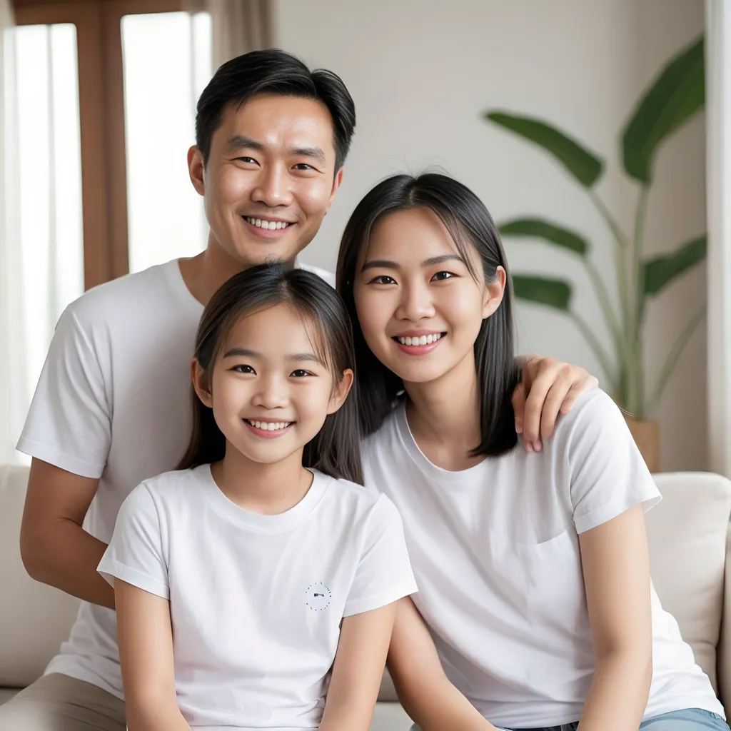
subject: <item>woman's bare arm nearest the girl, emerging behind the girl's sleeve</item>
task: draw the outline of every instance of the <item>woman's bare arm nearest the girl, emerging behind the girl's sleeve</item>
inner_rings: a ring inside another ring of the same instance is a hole
[[[495,727],[444,674],[433,640],[414,602],[397,602],[388,670],[406,713],[422,731],[489,731]]]

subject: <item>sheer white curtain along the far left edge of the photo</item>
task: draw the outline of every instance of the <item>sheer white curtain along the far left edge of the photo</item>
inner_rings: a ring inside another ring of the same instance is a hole
[[[0,0],[0,463],[20,461],[15,451],[28,409],[23,258],[20,252],[15,38],[9,0]]]

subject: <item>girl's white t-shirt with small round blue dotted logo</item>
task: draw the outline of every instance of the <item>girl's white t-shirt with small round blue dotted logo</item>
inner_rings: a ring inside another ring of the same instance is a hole
[[[416,591],[393,503],[314,471],[281,515],[208,465],[145,480],[99,571],[170,601],[178,706],[195,728],[317,728],[343,617]]]

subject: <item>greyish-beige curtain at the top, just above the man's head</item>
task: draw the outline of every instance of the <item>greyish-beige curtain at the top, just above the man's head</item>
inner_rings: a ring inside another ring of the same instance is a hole
[[[214,69],[273,44],[271,0],[183,0],[183,10],[211,13]]]

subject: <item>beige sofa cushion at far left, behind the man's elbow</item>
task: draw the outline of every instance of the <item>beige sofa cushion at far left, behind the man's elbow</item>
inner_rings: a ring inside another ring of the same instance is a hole
[[[0,466],[0,686],[39,678],[69,636],[79,602],[32,580],[20,561],[28,468]]]

